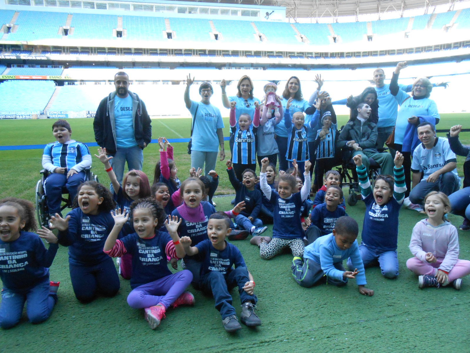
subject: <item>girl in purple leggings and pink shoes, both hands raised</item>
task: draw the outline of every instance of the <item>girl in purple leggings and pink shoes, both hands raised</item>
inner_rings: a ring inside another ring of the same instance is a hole
[[[164,221],[163,207],[151,198],[134,201],[131,212],[135,233],[120,240],[118,235],[129,215],[120,209],[111,212],[114,226],[103,251],[111,257],[132,256],[132,291],[127,303],[134,309],[145,308],[145,320],[156,329],[170,306],[194,305],[194,296],[185,292],[193,275],[188,270],[173,274],[166,264],[166,256],[186,255],[177,233],[181,219],[168,217]],[[168,233],[158,231],[163,223]]]

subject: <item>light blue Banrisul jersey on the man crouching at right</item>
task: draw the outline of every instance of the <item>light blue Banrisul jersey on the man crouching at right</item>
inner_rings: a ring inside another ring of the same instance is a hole
[[[424,147],[423,144],[418,144],[413,152],[411,169],[424,172],[423,180],[426,180],[428,176],[444,167],[447,163],[457,161],[455,153],[450,149],[449,141],[445,137],[438,137],[437,139],[438,141],[430,150]],[[460,180],[457,168],[452,170],[452,174]]]

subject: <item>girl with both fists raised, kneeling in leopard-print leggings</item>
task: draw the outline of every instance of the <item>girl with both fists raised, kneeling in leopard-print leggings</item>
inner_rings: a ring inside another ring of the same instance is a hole
[[[259,246],[259,256],[269,260],[289,247],[294,256],[304,254],[304,230],[300,222],[300,208],[310,192],[310,161],[305,161],[305,184],[296,192],[296,180],[290,174],[279,177],[277,192],[266,183],[266,168],[269,160],[261,160],[259,175],[261,190],[266,198],[274,204],[273,239],[256,236],[250,241]]]

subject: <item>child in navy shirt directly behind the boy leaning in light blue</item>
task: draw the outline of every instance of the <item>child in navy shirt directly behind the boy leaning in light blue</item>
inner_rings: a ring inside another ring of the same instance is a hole
[[[317,238],[333,232],[339,217],[347,216],[345,209],[339,206],[343,202],[343,190],[331,185],[325,194],[325,202],[318,205],[310,214],[311,224],[306,231],[307,245]]]

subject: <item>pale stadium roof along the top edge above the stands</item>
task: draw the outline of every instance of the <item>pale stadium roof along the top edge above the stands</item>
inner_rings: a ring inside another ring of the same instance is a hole
[[[467,0],[196,0],[198,2],[245,4],[264,6],[284,6],[287,17],[332,17],[359,16],[385,12],[401,12],[410,9],[423,9],[423,14],[434,6],[447,5],[449,10],[454,4]]]

